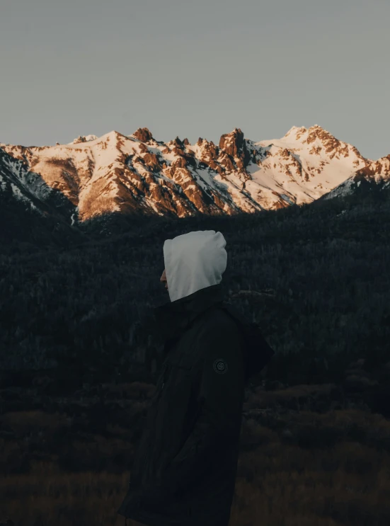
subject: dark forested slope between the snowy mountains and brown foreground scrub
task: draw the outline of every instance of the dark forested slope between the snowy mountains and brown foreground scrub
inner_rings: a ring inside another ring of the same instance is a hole
[[[71,248],[3,245],[1,369],[72,367],[75,382],[76,372],[80,381],[149,377],[159,349],[139,321],[168,301],[159,282],[164,240],[197,229],[226,238],[226,295],[258,321],[276,352],[265,375],[289,384],[335,381],[351,358],[372,366],[389,360],[388,198],[236,217],[112,217],[104,231],[99,222],[88,224],[89,241]]]

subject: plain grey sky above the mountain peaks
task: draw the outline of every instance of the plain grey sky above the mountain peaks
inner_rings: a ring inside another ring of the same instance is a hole
[[[0,0],[0,142],[321,125],[390,154],[389,0]]]

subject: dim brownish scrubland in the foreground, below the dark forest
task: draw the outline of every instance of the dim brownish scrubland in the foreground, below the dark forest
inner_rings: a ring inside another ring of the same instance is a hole
[[[231,526],[390,524],[390,421],[362,401],[378,382],[362,361],[340,386],[248,389]],[[390,362],[378,377],[390,382]],[[1,518],[122,524],[116,510],[154,387],[84,384],[59,395],[50,374],[37,372],[4,383]]]

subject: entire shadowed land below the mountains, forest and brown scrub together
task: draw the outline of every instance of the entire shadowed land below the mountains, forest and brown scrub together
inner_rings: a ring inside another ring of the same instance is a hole
[[[234,525],[389,524],[389,195],[110,215],[82,225],[88,241],[39,225],[16,222],[0,251],[4,522],[115,523],[161,363],[140,321],[169,301],[164,241],[214,229],[226,296],[275,349],[245,389]]]

